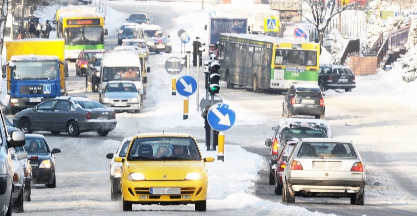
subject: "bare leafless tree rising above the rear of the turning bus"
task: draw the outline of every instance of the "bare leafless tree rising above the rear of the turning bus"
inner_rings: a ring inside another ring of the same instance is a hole
[[[324,32],[331,19],[342,11],[360,8],[359,1],[344,6],[340,6],[339,0],[303,0],[303,2],[303,6],[308,5],[308,9],[303,9],[301,16],[316,27],[320,44],[323,44]]]

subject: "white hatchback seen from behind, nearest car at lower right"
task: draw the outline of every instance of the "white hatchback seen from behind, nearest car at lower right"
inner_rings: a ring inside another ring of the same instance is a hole
[[[365,204],[366,174],[352,141],[304,138],[294,147],[282,173],[282,201],[295,195],[350,197],[350,204]]]

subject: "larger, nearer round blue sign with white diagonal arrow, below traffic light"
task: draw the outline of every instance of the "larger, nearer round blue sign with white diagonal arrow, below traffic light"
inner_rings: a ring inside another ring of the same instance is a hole
[[[232,128],[234,121],[236,120],[236,114],[229,105],[217,103],[209,109],[207,120],[209,121],[210,127],[214,130],[228,130]]]

